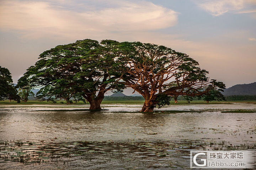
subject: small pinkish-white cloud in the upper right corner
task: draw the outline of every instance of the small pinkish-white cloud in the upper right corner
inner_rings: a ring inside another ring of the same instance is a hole
[[[256,4],[254,0],[193,0],[203,10],[213,16],[220,16],[229,11],[239,11]]]

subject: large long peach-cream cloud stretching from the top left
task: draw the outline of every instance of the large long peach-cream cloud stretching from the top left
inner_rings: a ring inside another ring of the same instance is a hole
[[[158,30],[174,26],[178,19],[175,11],[147,1],[105,0],[106,6],[102,6],[101,1],[94,2],[76,1],[79,10],[72,10],[72,6],[62,1],[58,5],[42,1],[2,1],[0,29],[31,37],[74,36],[90,32]]]

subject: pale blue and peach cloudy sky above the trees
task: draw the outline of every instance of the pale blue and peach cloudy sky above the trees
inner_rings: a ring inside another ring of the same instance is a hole
[[[87,38],[165,45],[226,87],[256,81],[256,0],[0,0],[0,66],[14,83],[43,51]]]

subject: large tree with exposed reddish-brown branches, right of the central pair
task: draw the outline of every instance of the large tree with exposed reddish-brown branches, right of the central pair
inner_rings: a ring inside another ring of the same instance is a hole
[[[115,46],[119,58],[127,63],[123,83],[145,98],[140,112],[153,112],[154,107],[169,104],[170,96],[200,96],[218,88],[219,82],[209,80],[208,72],[185,53],[141,42],[110,42],[108,46]],[[168,81],[177,85],[162,89]]]

